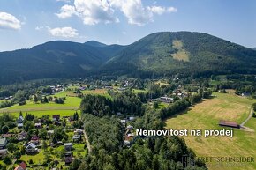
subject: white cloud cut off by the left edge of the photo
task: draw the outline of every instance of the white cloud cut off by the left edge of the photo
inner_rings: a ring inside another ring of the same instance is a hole
[[[21,22],[10,13],[0,12],[0,28],[19,30]]]

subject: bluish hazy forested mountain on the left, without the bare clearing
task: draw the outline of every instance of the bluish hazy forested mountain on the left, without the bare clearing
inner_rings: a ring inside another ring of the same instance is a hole
[[[123,47],[92,47],[71,41],[49,41],[30,49],[0,53],[0,85],[34,78],[85,76]]]

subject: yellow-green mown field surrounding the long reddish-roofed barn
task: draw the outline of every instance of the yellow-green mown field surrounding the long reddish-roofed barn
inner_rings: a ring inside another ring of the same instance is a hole
[[[243,122],[256,100],[249,100],[232,94],[214,93],[216,97],[204,100],[180,115],[166,120],[166,128],[172,129],[222,129],[220,119]],[[256,158],[256,119],[245,123],[254,132],[234,130],[234,137],[184,137],[186,144],[200,157],[254,157]],[[227,128],[230,129],[230,128]],[[256,169],[256,162],[240,166],[208,163],[210,170]]]

